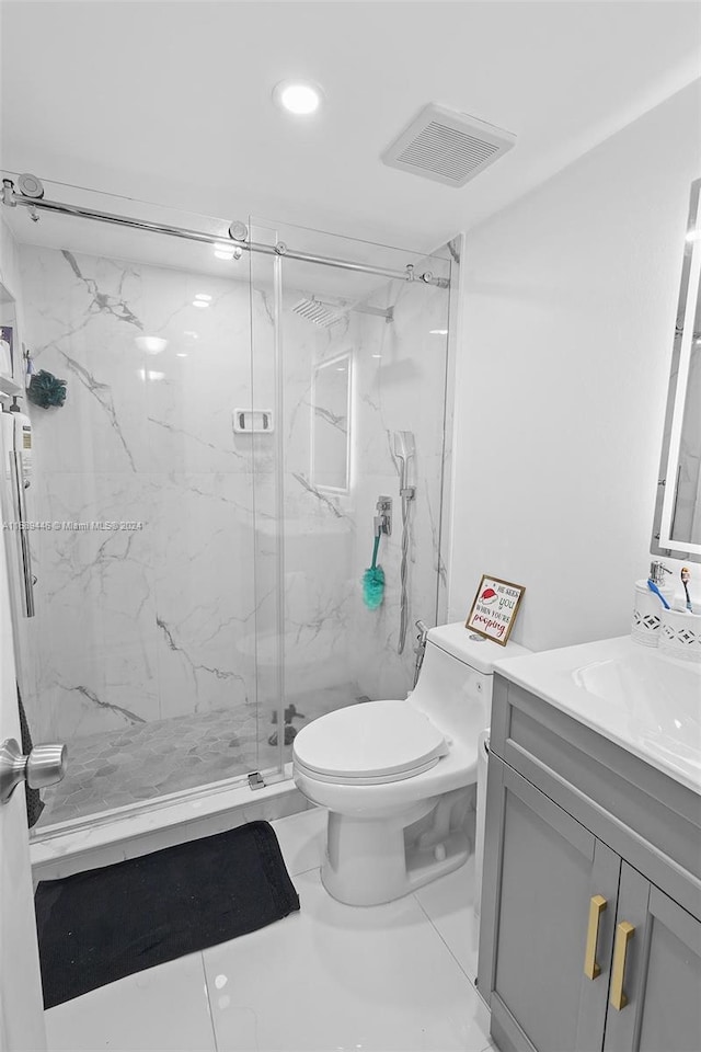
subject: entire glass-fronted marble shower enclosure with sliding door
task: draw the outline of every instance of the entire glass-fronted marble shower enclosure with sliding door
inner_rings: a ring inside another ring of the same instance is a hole
[[[33,618],[14,586],[32,732],[70,757],[42,835],[281,778],[307,721],[405,696],[411,626],[445,616],[455,262],[65,185],[30,205],[1,210],[15,345],[68,391],[28,403]]]

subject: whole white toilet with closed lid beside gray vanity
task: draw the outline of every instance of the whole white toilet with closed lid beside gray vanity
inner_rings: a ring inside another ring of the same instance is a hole
[[[467,860],[494,662],[526,653],[461,621],[433,628],[407,698],[337,709],[299,731],[292,777],[329,811],[321,879],[334,899],[390,902]]]

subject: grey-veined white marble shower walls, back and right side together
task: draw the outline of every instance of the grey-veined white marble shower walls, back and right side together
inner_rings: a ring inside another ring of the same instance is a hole
[[[32,517],[143,523],[33,537],[35,736],[70,741],[235,709],[239,736],[260,719],[261,729],[245,737],[266,739],[280,654],[275,439],[235,435],[232,411],[250,404],[252,386],[256,407],[275,403],[269,289],[250,296],[243,282],[28,245],[21,259],[36,366],[69,381],[62,409],[32,410]],[[200,291],[212,296],[208,308],[193,306]],[[288,701],[313,717],[359,696],[399,697],[411,686],[413,634],[397,654],[395,430],[413,431],[417,448],[410,625],[436,618],[445,581],[446,336],[430,330],[448,328],[448,293],[392,283],[372,299],[394,307],[391,323],[352,312],[331,330],[294,313],[299,298],[299,290],[285,293],[281,320],[285,687]],[[153,334],[168,346],[145,354],[135,339]],[[352,487],[338,494],[311,474],[311,378],[321,362],[346,352],[354,370],[345,422]],[[380,493],[393,498],[394,529],[380,549],[386,601],[371,613],[360,581]],[[255,761],[248,757],[249,769]]]

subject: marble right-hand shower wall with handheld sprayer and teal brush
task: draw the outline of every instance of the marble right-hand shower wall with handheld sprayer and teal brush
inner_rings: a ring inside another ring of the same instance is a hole
[[[444,264],[445,267],[445,264]],[[297,296],[297,298],[299,298]],[[286,298],[286,308],[292,302]],[[285,309],[286,694],[309,704],[310,690],[346,685],[348,699],[404,697],[413,682],[413,622],[435,624],[445,584],[440,560],[444,421],[449,294],[394,282],[368,301],[394,309],[393,320],[352,311],[329,330]],[[434,330],[434,332],[432,332]],[[346,494],[314,485],[310,412],[315,366],[348,354],[353,362],[352,484]],[[414,432],[409,569],[410,633],[397,652],[400,624],[401,500],[394,431]],[[393,530],[381,539],[384,602],[370,611],[360,582],[370,564],[380,494],[393,500]]]

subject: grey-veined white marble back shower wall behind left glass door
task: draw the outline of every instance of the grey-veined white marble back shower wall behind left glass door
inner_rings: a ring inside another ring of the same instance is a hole
[[[32,409],[33,517],[142,523],[34,536],[35,736],[255,701],[235,647],[255,608],[252,450],[232,432],[251,397],[248,284],[28,245],[21,259],[27,343],[69,391]],[[150,355],[135,341],[154,334],[168,345]]]

